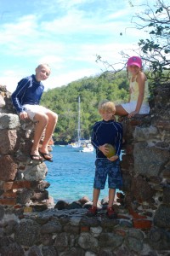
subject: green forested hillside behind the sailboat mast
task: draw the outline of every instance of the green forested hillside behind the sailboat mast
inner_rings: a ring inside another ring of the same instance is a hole
[[[59,122],[54,131],[58,143],[77,140],[78,96],[81,99],[81,134],[88,139],[94,123],[100,119],[98,104],[108,99],[115,104],[127,102],[127,73],[105,73],[71,82],[48,90],[42,95],[41,104],[59,114]]]

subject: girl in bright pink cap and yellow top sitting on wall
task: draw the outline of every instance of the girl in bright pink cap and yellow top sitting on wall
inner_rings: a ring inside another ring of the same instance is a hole
[[[129,101],[116,106],[116,115],[132,118],[136,113],[150,113],[148,81],[142,72],[140,57],[133,56],[128,59],[127,73],[130,73]]]

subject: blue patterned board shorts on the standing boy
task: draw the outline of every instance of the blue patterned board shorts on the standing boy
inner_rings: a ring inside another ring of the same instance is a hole
[[[108,187],[110,189],[120,189],[122,187],[122,174],[120,161],[108,159],[95,160],[94,189],[105,189],[106,178],[108,177]]]

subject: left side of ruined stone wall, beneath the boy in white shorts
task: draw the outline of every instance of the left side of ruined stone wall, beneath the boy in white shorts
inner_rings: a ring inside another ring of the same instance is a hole
[[[44,162],[31,160],[34,123],[20,121],[6,86],[0,86],[0,204],[47,209],[54,204],[48,196],[48,169]],[[41,144],[40,144],[41,146]]]

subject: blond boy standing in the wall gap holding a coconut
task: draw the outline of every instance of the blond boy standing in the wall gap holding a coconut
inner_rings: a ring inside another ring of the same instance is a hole
[[[109,186],[107,216],[108,218],[116,217],[116,213],[112,206],[116,189],[120,189],[122,186],[122,175],[119,161],[122,148],[122,124],[115,121],[115,112],[116,108],[113,102],[105,100],[99,103],[99,114],[102,117],[102,120],[94,124],[92,133],[92,144],[96,149],[96,168],[94,177],[93,206],[88,209],[88,217],[93,217],[97,214],[97,203],[99,200],[100,189],[105,189],[107,176]],[[110,158],[107,157],[109,154],[107,144],[111,144],[116,148],[116,154]]]

